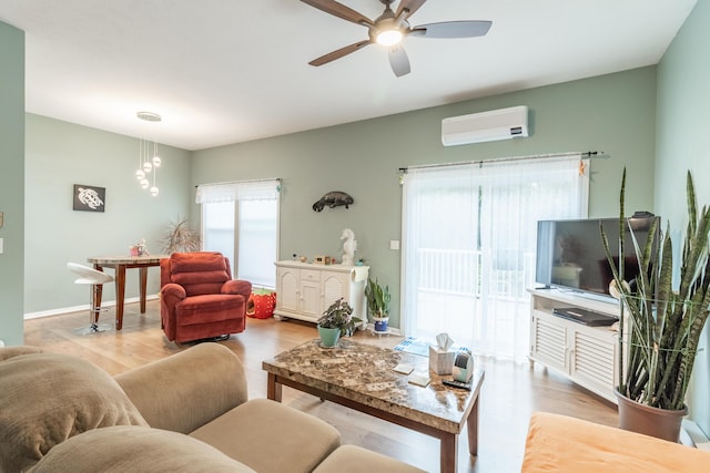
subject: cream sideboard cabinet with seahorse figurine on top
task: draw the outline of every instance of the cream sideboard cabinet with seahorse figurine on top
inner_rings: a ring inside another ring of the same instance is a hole
[[[276,318],[316,322],[341,297],[353,308],[353,316],[367,320],[365,285],[368,266],[314,265],[276,261]]]

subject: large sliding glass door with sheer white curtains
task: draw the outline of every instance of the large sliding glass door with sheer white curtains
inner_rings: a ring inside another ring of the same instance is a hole
[[[584,218],[579,154],[409,169],[404,178],[403,328],[525,359],[537,220]]]

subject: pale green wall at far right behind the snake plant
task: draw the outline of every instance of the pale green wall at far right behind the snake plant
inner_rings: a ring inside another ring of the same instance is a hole
[[[699,0],[658,65],[658,125],[655,202],[682,238],[688,223],[686,172],[693,176],[698,204],[710,205],[710,0]],[[678,253],[678,249],[677,249]],[[679,255],[674,255],[676,258]],[[706,327],[693,370],[690,415],[710,434],[710,330]]]

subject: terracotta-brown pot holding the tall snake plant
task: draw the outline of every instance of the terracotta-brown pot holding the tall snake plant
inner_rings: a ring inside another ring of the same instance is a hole
[[[678,442],[680,424],[688,413],[688,407],[680,411],[669,411],[636,402],[618,390],[613,393],[619,403],[619,429]]]

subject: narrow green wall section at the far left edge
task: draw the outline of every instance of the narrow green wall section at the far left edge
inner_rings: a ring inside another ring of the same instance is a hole
[[[0,22],[0,340],[21,345],[24,273],[24,32]]]

